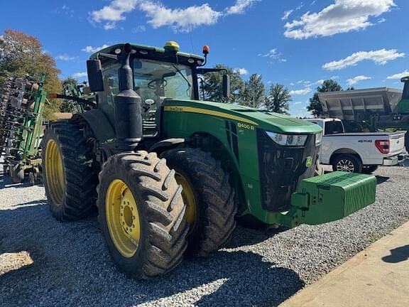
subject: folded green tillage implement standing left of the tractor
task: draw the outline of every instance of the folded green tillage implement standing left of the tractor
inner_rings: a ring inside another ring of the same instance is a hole
[[[32,183],[40,181],[44,82],[44,75],[39,80],[6,76],[0,87],[0,156],[13,183],[23,182],[27,174]]]

